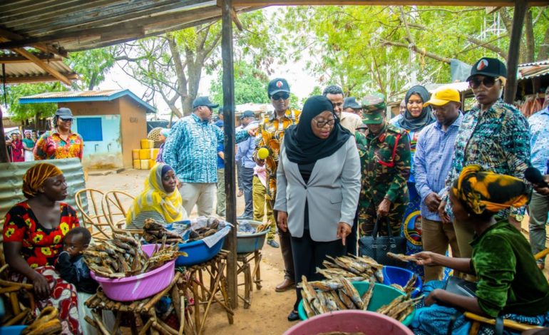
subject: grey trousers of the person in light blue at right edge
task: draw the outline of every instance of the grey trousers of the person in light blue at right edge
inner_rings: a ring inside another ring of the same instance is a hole
[[[547,224],[549,212],[549,196],[540,195],[538,192],[532,193],[532,200],[528,205],[528,214],[530,215],[530,221],[528,221],[528,230],[530,232],[530,246],[532,252],[537,254],[545,249],[545,225]],[[545,257],[538,260],[540,263],[545,263]]]

